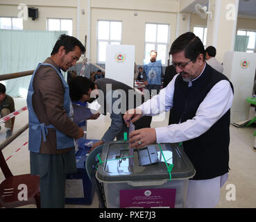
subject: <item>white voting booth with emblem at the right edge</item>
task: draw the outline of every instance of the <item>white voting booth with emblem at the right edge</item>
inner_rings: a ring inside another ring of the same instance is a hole
[[[230,51],[225,53],[223,74],[234,86],[234,99],[231,107],[230,122],[246,121],[249,117],[250,104],[246,98],[253,94],[256,53]]]

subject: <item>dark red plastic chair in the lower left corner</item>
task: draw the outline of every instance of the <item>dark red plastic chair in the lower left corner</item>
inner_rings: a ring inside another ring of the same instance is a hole
[[[3,153],[0,150],[0,167],[3,171],[3,175],[6,180],[3,180],[0,184],[0,207],[12,208],[20,207],[29,204],[35,204],[37,208],[40,208],[40,177],[33,176],[31,174],[24,174],[19,176],[13,176],[6,160],[3,157]],[[28,200],[19,200],[18,196],[24,198],[24,187],[19,188],[19,185],[26,185]],[[19,188],[19,189],[18,189]]]

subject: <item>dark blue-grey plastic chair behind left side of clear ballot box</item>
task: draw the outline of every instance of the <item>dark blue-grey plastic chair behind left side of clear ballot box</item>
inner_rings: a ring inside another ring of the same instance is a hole
[[[96,155],[98,153],[101,153],[103,146],[104,145],[97,146],[96,148],[94,148],[94,150],[91,153],[89,153],[89,155],[87,156],[87,159],[85,162],[85,168],[89,176],[89,180],[91,180],[92,185],[94,185],[96,194],[98,196],[100,208],[105,208],[105,203],[104,203],[105,198],[101,190],[101,185],[99,184],[99,181],[96,179],[95,173],[96,173],[96,164],[99,162],[99,160],[97,160],[98,158],[96,157]]]

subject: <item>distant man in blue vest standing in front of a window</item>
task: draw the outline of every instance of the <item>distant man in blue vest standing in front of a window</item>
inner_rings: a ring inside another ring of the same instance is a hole
[[[162,84],[162,62],[161,60],[156,60],[156,58],[157,51],[152,50],[150,60],[148,62],[144,61],[144,71],[146,73],[144,84],[150,95],[158,94]],[[153,89],[155,89],[155,92],[152,91]]]

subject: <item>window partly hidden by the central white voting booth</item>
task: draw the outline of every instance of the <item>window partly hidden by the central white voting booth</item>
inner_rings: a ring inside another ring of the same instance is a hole
[[[105,62],[107,44],[121,44],[121,31],[121,22],[98,21],[97,62]]]

